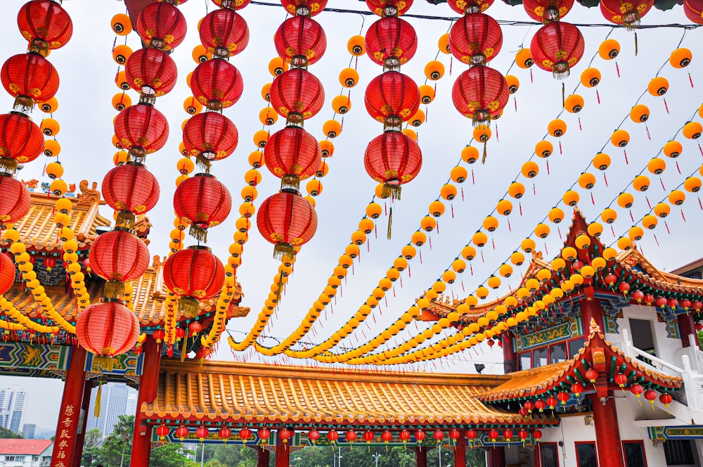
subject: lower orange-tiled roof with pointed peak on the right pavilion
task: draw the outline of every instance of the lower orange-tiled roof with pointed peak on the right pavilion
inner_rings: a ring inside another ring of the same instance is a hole
[[[595,384],[586,380],[586,370],[595,368],[599,371],[600,379]],[[573,383],[581,383],[586,387],[585,392],[593,392],[594,386],[614,389],[615,373],[628,376],[627,385],[651,385],[654,388],[678,389],[683,380],[676,376],[652,371],[637,360],[626,357],[625,354],[605,339],[600,327],[591,320],[591,330],[586,343],[579,353],[565,362],[539,366],[537,368],[510,373],[510,380],[496,388],[478,395],[486,402],[498,402],[509,399],[523,399],[543,395],[553,391],[569,391]],[[562,388],[562,385],[564,386]]]

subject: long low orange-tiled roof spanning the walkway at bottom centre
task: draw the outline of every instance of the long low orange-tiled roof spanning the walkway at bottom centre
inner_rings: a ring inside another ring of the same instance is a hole
[[[316,426],[545,425],[477,396],[508,376],[368,373],[229,362],[162,361],[150,418]]]

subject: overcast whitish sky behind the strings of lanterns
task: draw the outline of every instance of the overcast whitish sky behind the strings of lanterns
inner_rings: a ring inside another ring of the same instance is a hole
[[[15,18],[16,12],[22,5],[20,0],[6,0],[6,14],[0,16],[0,40],[3,47],[0,58],[5,60],[14,53],[22,53],[26,42],[20,37]],[[54,117],[61,124],[58,134],[63,152],[60,161],[65,167],[65,179],[70,183],[78,183],[82,179],[101,181],[105,172],[112,167],[112,110],[110,99],[118,90],[112,82],[117,66],[112,61],[110,50],[114,34],[110,31],[110,18],[115,13],[124,11],[124,4],[119,1],[96,2],[89,0],[65,1],[64,6],[72,16],[75,33],[67,46],[51,53],[49,60],[56,66],[60,77],[61,86],[58,92],[60,109]],[[196,23],[205,15],[206,6],[212,11],[214,4],[205,0],[191,0],[181,6],[189,22],[189,32],[186,41],[176,49],[172,55],[179,65],[179,84],[169,95],[159,98],[157,108],[169,118],[171,136],[167,146],[150,155],[148,167],[157,175],[162,187],[160,203],[155,210],[150,212],[150,219],[154,224],[151,231],[150,252],[152,255],[165,255],[168,245],[168,233],[172,229],[172,195],[174,179],[176,178],[175,162],[179,158],[178,145],[180,138],[180,125],[186,118],[182,103],[188,94],[185,78],[188,72],[195,68],[191,59],[191,50],[198,43]],[[366,4],[360,1],[331,0],[328,6],[335,8],[349,8],[366,10]],[[231,242],[231,234],[236,221],[236,210],[240,201],[239,192],[243,186],[243,174],[250,167],[247,165],[247,156],[254,150],[252,135],[261,129],[258,120],[259,110],[264,108],[259,91],[266,82],[271,81],[271,76],[266,70],[267,63],[275,56],[273,48],[273,32],[285,19],[282,8],[271,6],[247,6],[241,11],[250,27],[251,39],[248,48],[238,56],[231,58],[231,63],[242,72],[245,81],[245,95],[232,108],[225,110],[225,114],[236,123],[240,143],[234,155],[230,158],[216,162],[212,172],[223,180],[233,196],[233,214],[228,221],[212,229],[209,235],[209,245],[212,245],[217,254],[226,258],[226,252]],[[424,1],[415,0],[410,13],[437,16],[455,16],[446,4],[431,6]],[[493,15],[498,20],[529,20],[522,7],[508,7],[501,1],[496,1],[486,13]],[[321,127],[325,120],[332,117],[329,102],[334,96],[340,94],[340,85],[337,75],[342,68],[349,65],[347,52],[347,39],[360,30],[366,31],[375,17],[362,17],[358,14],[342,14],[325,12],[316,16],[328,36],[328,49],[325,56],[310,67],[325,86],[325,108],[317,117],[306,122],[305,128],[321,138]],[[427,61],[434,59],[437,53],[437,39],[449,29],[446,20],[418,20],[408,18],[418,32],[420,45],[415,58],[402,71],[415,79],[418,84],[423,84],[423,68]],[[579,4],[567,17],[566,21],[572,23],[604,24],[605,20],[600,15],[598,8],[587,9]],[[652,10],[643,19],[644,25],[663,25],[669,23],[688,23],[683,15],[681,6],[676,6],[673,11],[665,13]],[[362,27],[363,24],[363,27]],[[491,63],[505,74],[521,44],[529,46],[529,41],[536,32],[536,26],[504,25],[503,50]],[[577,84],[581,71],[588,66],[589,61],[596,53],[598,45],[611,32],[610,27],[583,27],[581,28],[586,39],[586,53],[579,65],[576,65],[572,76],[565,80],[567,94]],[[600,104],[596,100],[594,89],[579,88],[579,93],[586,100],[586,105],[580,114],[582,130],[579,131],[579,122],[576,115],[565,114],[562,118],[569,125],[567,134],[562,137],[563,154],[559,154],[558,144],[555,144],[555,154],[549,159],[550,174],[547,174],[546,161],[539,160],[541,172],[534,180],[534,196],[531,181],[520,177],[527,186],[527,194],[522,199],[522,216],[515,202],[515,210],[510,215],[510,227],[504,217],[501,217],[501,226],[494,233],[495,249],[491,243],[483,248],[484,261],[481,257],[472,262],[473,275],[465,272],[461,280],[457,280],[449,292],[458,298],[464,298],[475,288],[481,285],[490,274],[508,259],[512,250],[517,248],[524,236],[531,233],[534,225],[546,216],[550,207],[560,203],[562,193],[572,186],[578,175],[585,169],[593,155],[606,146],[605,152],[612,157],[612,166],[607,170],[608,186],[597,174],[598,182],[593,190],[595,205],[591,203],[590,194],[581,193],[579,207],[585,212],[588,219],[600,215],[610,200],[626,188],[626,184],[635,174],[645,167],[646,162],[657,155],[662,145],[669,141],[677,130],[695,113],[701,104],[701,87],[703,87],[703,65],[697,56],[695,44],[700,44],[702,32],[695,30],[689,32],[683,40],[683,46],[694,50],[693,62],[688,70],[675,70],[664,65],[661,75],[669,79],[671,85],[666,94],[669,114],[666,113],[661,97],[645,94],[640,103],[650,107],[651,117],[647,123],[651,141],[647,139],[645,127],[634,124],[626,119],[622,127],[631,133],[631,144],[628,146],[629,165],[625,164],[624,156],[620,149],[610,146],[610,134],[621,121],[628,115],[629,109],[636,103],[640,94],[646,90],[647,82],[657,74],[657,70],[666,62],[669,53],[676,49],[683,36],[683,30],[678,28],[657,28],[640,30],[638,32],[638,56],[634,54],[634,34],[624,30],[614,30],[610,37],[617,39],[621,44],[621,56],[617,59],[621,76],[617,76],[615,62],[605,62],[596,57],[593,66],[602,72],[602,82],[598,86]],[[128,43],[138,47],[138,37],[131,34]],[[393,238],[385,238],[385,218],[378,221],[378,238],[370,236],[369,251],[366,245],[362,248],[361,262],[354,265],[354,275],[349,275],[342,286],[342,294],[323,313],[318,324],[314,326],[314,335],[309,335],[309,340],[321,342],[333,333],[351,316],[365,300],[378,280],[385,276],[385,271],[391,266],[394,257],[399,255],[413,231],[418,228],[421,217],[427,213],[427,205],[439,196],[439,188],[449,179],[449,171],[460,159],[461,149],[470,141],[470,120],[458,115],[451,103],[451,86],[459,72],[466,66],[453,60],[450,64],[449,56],[439,57],[446,66],[447,73],[437,82],[437,99],[427,109],[427,122],[418,129],[419,143],[423,149],[423,170],[415,181],[404,187],[403,198],[394,207]],[[382,125],[374,122],[363,105],[363,91],[368,81],[380,73],[380,67],[374,65],[366,57],[359,58],[359,74],[361,83],[352,89],[352,110],[344,117],[344,130],[342,135],[335,139],[335,155],[328,160],[330,174],[322,181],[324,191],[318,196],[318,231],[314,239],[306,245],[299,255],[295,265],[295,274],[290,279],[285,297],[280,309],[272,320],[271,327],[267,330],[269,335],[285,338],[288,332],[297,326],[302,317],[307,313],[314,300],[322,292],[326,280],[337,264],[337,257],[344,252],[344,247],[349,243],[349,236],[356,229],[356,224],[363,217],[366,204],[373,196],[375,182],[372,181],[363,169],[363,151],[366,144],[374,136],[382,132]],[[449,75],[451,68],[452,74]],[[695,87],[689,83],[688,71],[692,75]],[[425,245],[422,248],[423,260],[416,257],[411,262],[412,276],[407,271],[403,274],[403,286],[396,286],[394,293],[387,295],[387,304],[382,302],[380,309],[375,309],[368,319],[370,328],[361,326],[360,330],[367,338],[376,335],[388,324],[392,323],[425,288],[429,287],[438,276],[449,267],[451,261],[458,255],[461,248],[470,239],[472,233],[482,223],[482,219],[494,209],[496,202],[504,196],[510,181],[518,176],[520,165],[531,157],[534,144],[543,139],[546,134],[547,123],[561,111],[561,83],[553,79],[550,72],[543,72],[536,67],[529,70],[520,70],[513,67],[511,74],[520,79],[520,91],[515,95],[517,111],[513,98],[505,110],[504,116],[494,125],[494,138],[488,144],[488,159],[485,165],[476,164],[467,167],[474,171],[475,184],[470,177],[463,184],[464,200],[459,196],[453,202],[453,213],[447,206],[446,214],[439,219],[439,231],[432,233],[432,248]],[[531,79],[532,78],[532,79]],[[534,82],[532,82],[534,80]],[[134,101],[136,94],[131,93]],[[0,93],[0,108],[4,111],[11,109],[11,98],[5,93]],[[35,112],[34,119],[41,120],[41,113]],[[696,116],[696,120],[701,119]],[[273,131],[282,127],[282,119],[273,127]],[[497,135],[496,135],[497,134]],[[496,137],[498,136],[498,137]],[[682,174],[679,174],[672,160],[667,160],[668,169],[662,175],[662,183],[666,191],[662,190],[657,177],[652,176],[652,188],[647,191],[647,196],[652,203],[663,198],[668,191],[683,182],[688,174],[694,172],[703,162],[697,144],[693,141],[679,137],[683,143],[684,151],[678,158]],[[20,177],[25,179],[41,177],[44,158],[33,162],[20,172]],[[261,201],[278,189],[278,179],[273,177],[268,170],[263,169],[263,181],[259,185],[259,199]],[[643,193],[635,195],[636,203],[633,206],[633,217],[637,220],[647,213],[649,208]],[[563,205],[560,207],[564,208]],[[565,209],[566,210],[566,209]],[[568,212],[568,211],[567,211]],[[703,224],[702,210],[696,196],[689,194],[683,205],[685,222],[678,208],[672,209],[671,216],[667,219],[669,232],[663,223],[654,231],[657,236],[655,241],[652,233],[647,233],[640,248],[654,264],[662,269],[673,269],[691,260],[703,256],[703,247],[695,238],[694,232],[701,229]],[[105,215],[110,215],[105,210]],[[568,228],[568,220],[561,224],[560,231],[564,234]],[[627,212],[619,210],[619,219],[614,224],[614,232],[619,235],[631,226]],[[552,257],[558,251],[561,240],[556,227],[552,225],[552,235],[547,243],[538,242],[538,248],[546,248],[546,257]],[[614,240],[610,229],[606,229],[603,238],[607,243]],[[245,298],[243,305],[251,307],[250,316],[245,319],[236,319],[229,323],[228,329],[240,340],[243,334],[240,331],[249,331],[256,321],[269,286],[276,273],[276,262],[271,257],[272,246],[264,241],[256,229],[250,231],[250,242],[247,243],[243,266],[240,267],[239,280],[243,285]],[[504,281],[501,293],[508,290],[508,286],[518,283],[520,274],[515,274],[510,281]],[[494,293],[495,294],[495,293]],[[495,297],[495,295],[492,295]],[[422,326],[419,327],[422,330]],[[400,343],[401,339],[408,339],[418,332],[414,324],[408,326],[406,333],[393,340]],[[352,338],[351,344],[361,343],[364,336],[357,333]],[[264,340],[271,345],[273,340]],[[251,352],[244,355],[233,356],[228,350],[226,341],[220,345],[217,354],[220,359],[247,359],[255,358]],[[470,350],[456,358],[447,359],[445,362],[423,364],[417,368],[426,371],[473,371],[472,362],[488,363],[487,371],[500,372],[501,365],[491,362],[500,361],[501,355],[498,347],[489,350],[489,347],[479,350]],[[283,359],[264,359],[269,362],[290,362]],[[309,362],[292,362],[304,364]],[[0,384],[15,384],[18,378],[0,378]],[[56,410],[60,400],[61,383],[55,380],[24,380],[19,378],[19,383],[30,391],[26,421],[37,423],[39,426],[51,427],[55,423]]]

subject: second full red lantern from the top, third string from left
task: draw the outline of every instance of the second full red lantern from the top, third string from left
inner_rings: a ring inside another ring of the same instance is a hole
[[[239,70],[226,60],[207,60],[193,70],[191,91],[209,110],[222,110],[239,101],[244,80]]]

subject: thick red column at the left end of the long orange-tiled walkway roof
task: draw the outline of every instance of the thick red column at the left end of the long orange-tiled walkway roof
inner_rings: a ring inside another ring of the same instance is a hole
[[[144,363],[139,378],[139,393],[136,398],[136,416],[134,417],[134,435],[132,436],[130,467],[148,467],[151,454],[151,430],[141,415],[141,404],[150,404],[156,398],[159,385],[159,365],[161,362],[161,344],[148,335],[143,346]]]

